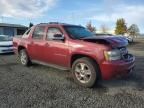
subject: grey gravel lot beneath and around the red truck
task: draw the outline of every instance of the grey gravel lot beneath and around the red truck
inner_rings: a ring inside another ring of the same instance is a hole
[[[0,55],[0,108],[144,108],[144,40],[129,45],[136,56],[128,78],[102,81],[93,89],[75,84],[70,72]]]

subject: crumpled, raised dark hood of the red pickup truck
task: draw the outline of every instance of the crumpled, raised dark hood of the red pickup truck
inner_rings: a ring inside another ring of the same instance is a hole
[[[100,44],[109,44],[112,47],[123,47],[128,45],[128,41],[124,37],[118,36],[93,36],[83,38],[83,40]]]

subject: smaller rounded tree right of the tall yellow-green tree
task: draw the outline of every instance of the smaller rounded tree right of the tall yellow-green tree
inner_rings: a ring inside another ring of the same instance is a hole
[[[129,28],[128,28],[128,33],[130,36],[132,37],[136,37],[139,35],[139,28],[136,24],[132,24]]]

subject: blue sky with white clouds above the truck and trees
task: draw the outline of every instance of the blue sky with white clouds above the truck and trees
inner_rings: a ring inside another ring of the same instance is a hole
[[[1,22],[28,25],[65,22],[113,29],[118,18],[144,33],[144,0],[0,0]]]

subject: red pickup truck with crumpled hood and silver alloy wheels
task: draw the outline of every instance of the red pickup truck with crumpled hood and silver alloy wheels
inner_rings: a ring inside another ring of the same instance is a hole
[[[13,39],[22,65],[35,62],[71,70],[84,87],[92,87],[100,78],[130,73],[135,57],[128,53],[127,44],[122,37],[95,36],[82,26],[64,23],[41,23]]]

